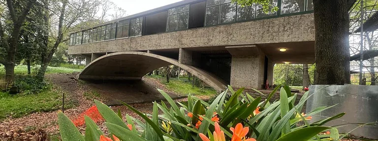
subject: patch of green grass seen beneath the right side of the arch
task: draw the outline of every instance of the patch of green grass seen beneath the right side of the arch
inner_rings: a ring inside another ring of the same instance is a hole
[[[178,93],[178,94],[183,94],[183,95],[186,95],[186,94],[194,94],[194,95],[214,95],[214,94],[217,94],[217,91],[215,91],[212,88],[201,89],[201,88],[198,88],[198,87],[195,87],[195,86],[193,88],[192,85],[191,85],[191,82],[188,81],[187,77],[181,77],[180,76],[180,79],[170,78],[169,83],[166,82],[165,77],[161,77],[161,76],[158,76],[158,75],[150,75],[150,76],[147,75],[147,77],[158,79],[160,81],[160,83],[164,84],[165,87],[169,91],[173,91],[173,92]]]

